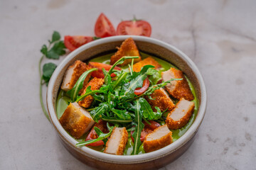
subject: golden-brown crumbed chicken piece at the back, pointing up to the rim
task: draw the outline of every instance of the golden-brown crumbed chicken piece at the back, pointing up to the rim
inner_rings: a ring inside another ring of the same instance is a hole
[[[142,58],[139,55],[139,50],[137,49],[137,46],[132,38],[127,38],[122,42],[122,45],[118,48],[117,52],[112,55],[110,59],[110,64],[114,64],[119,60],[120,58],[124,56],[139,56],[138,59],[134,59],[134,62],[139,62],[142,60]],[[132,62],[132,59],[124,60],[122,64],[119,64],[119,66],[124,66]]]

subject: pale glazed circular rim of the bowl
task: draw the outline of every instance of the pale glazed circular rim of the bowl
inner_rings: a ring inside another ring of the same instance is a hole
[[[159,45],[161,47],[166,48],[167,50],[171,50],[171,52],[174,52],[176,55],[181,57],[187,64],[188,67],[191,67],[194,74],[196,74],[196,77],[198,78],[199,86],[201,88],[201,106],[198,110],[198,115],[196,117],[196,120],[193,122],[190,128],[185,132],[184,135],[182,135],[178,140],[173,142],[171,145],[168,145],[162,149],[158,149],[154,152],[149,152],[145,154],[138,154],[138,155],[113,155],[113,154],[105,154],[102,152],[95,151],[94,149],[90,149],[89,147],[75,147],[75,143],[77,141],[71,137],[68,132],[64,130],[62,125],[60,125],[60,122],[57,118],[57,115],[55,113],[55,106],[53,106],[53,87],[55,84],[55,80],[58,78],[58,74],[60,71],[65,67],[65,65],[70,62],[70,60],[73,59],[76,55],[80,54],[80,52],[90,48],[94,47],[96,45],[105,44],[107,42],[116,42],[116,41],[122,41],[127,38],[133,38],[134,41],[142,41],[142,42],[150,42],[152,44]],[[207,97],[206,97],[206,86],[203,81],[203,77],[201,76],[201,73],[199,72],[198,68],[196,67],[196,64],[193,63],[193,61],[181,50],[178,50],[173,45],[169,45],[166,42],[163,42],[161,40],[156,40],[155,38],[148,38],[144,36],[137,36],[137,35],[118,35],[113,36],[109,38],[102,38],[100,40],[92,41],[90,43],[87,43],[85,45],[82,45],[77,50],[74,50],[73,52],[70,52],[70,54],[65,57],[65,59],[60,62],[58,67],[55,69],[55,72],[53,72],[53,75],[50,79],[50,82],[48,84],[48,90],[47,90],[47,96],[46,96],[46,103],[48,108],[48,114],[50,117],[50,121],[55,127],[55,130],[57,130],[58,135],[63,137],[63,140],[65,142],[68,142],[69,145],[73,147],[76,151],[80,152],[81,154],[86,155],[87,157],[91,157],[92,159],[97,159],[104,162],[112,162],[112,163],[119,163],[119,164],[132,164],[135,162],[148,162],[150,160],[158,159],[160,157],[164,157],[167,154],[171,154],[171,152],[176,151],[178,148],[182,147],[186,142],[188,142],[193,135],[197,132],[199,126],[201,125],[203,121],[203,117],[206,113],[206,103],[207,103]]]

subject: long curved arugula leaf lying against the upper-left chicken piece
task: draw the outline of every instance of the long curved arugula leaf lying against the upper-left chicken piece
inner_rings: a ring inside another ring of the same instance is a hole
[[[90,73],[90,72],[93,72],[97,70],[96,68],[92,68],[92,69],[89,69],[87,70],[86,72],[84,72],[78,79],[78,81],[75,83],[75,86],[73,86],[73,88],[67,92],[67,94],[70,96],[71,100],[72,101],[75,101],[76,98],[78,97],[78,93],[79,91],[82,89],[82,85],[83,85],[83,82],[85,81],[85,78],[87,77],[87,75]]]

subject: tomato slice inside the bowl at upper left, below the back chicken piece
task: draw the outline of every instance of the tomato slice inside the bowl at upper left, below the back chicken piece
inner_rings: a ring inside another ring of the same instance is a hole
[[[103,64],[100,62],[89,62],[89,65],[93,68],[98,69],[98,70],[92,72],[92,77],[97,77],[97,78],[102,78],[102,79],[104,78],[102,68],[104,68],[108,71],[112,67],[112,65],[110,65],[110,64]],[[114,67],[114,69],[121,70],[120,67]],[[115,77],[116,75],[114,73],[112,73],[110,76]]]

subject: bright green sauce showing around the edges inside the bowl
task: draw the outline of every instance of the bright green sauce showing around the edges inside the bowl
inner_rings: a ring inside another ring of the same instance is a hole
[[[144,52],[140,52],[142,59],[149,57],[149,55],[147,55]],[[110,64],[110,57],[113,55],[113,53],[108,54],[108,55],[103,55],[101,57],[96,57],[92,60],[90,60],[90,62],[102,62],[105,64]],[[152,56],[151,56],[152,57]],[[177,67],[175,67],[173,64],[166,62],[164,60],[161,60],[157,57],[153,57],[154,60],[156,60],[157,62],[159,62],[159,64],[161,64],[161,66],[163,67],[163,69],[161,69],[161,72],[164,72],[168,69],[170,69],[171,67],[174,67],[176,69],[178,69]],[[122,69],[129,69],[128,66],[122,67]],[[186,76],[185,76],[186,77]],[[191,116],[191,119],[188,121],[188,123],[181,129],[178,130],[171,130],[172,132],[172,137],[173,137],[173,141],[178,140],[178,138],[180,138],[182,135],[184,135],[184,133],[188,130],[188,128],[191,127],[191,125],[193,124],[193,121],[196,119],[196,115],[198,113],[198,98],[196,97],[196,91],[193,87],[193,84],[191,83],[191,81],[189,81],[189,79],[186,77],[186,80],[188,81],[188,85],[192,91],[192,94],[194,96],[193,102],[195,103],[195,108],[194,108],[194,112],[193,115]],[[65,109],[68,107],[68,103],[70,103],[70,98],[68,98],[68,96],[65,95],[65,91],[60,90],[59,94],[58,94],[58,98],[57,98],[57,102],[56,102],[56,113],[57,113],[57,117],[58,119],[61,117],[61,115],[63,115]],[[175,103],[175,101],[174,101]],[[164,121],[162,121],[160,123],[161,125],[164,125]],[[87,134],[83,135],[79,140],[77,140],[78,142],[82,142],[85,141],[85,137],[87,136]],[[92,149],[95,149],[97,151],[103,152],[104,147],[100,146],[100,147],[90,147]],[[128,142],[127,142],[127,146],[124,149],[124,155],[130,155],[132,154],[132,150],[133,150],[133,142],[132,142],[132,138],[130,137],[130,132],[129,132],[129,138],[128,138]],[[139,154],[144,154],[144,148],[143,148],[143,144],[139,147]]]

